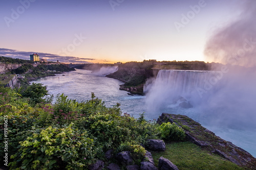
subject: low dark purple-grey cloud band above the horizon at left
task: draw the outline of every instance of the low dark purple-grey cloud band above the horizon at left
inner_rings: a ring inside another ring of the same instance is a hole
[[[29,60],[30,55],[35,52],[22,52],[17,50],[12,50],[8,48],[0,48],[0,56],[5,57],[12,57],[12,58],[19,58],[24,60]],[[79,58],[79,57],[73,57],[73,56],[59,56],[56,54],[50,54],[50,53],[38,53],[40,58],[45,58],[48,61],[59,61],[59,62],[65,62],[65,63],[89,63],[87,60],[92,61],[95,59],[92,58]]]

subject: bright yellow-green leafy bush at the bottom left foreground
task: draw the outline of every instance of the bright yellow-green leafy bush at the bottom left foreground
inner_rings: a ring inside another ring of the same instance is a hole
[[[46,129],[32,127],[32,135],[20,141],[20,149],[11,156],[11,167],[26,169],[82,169],[93,163],[97,150],[94,140],[86,130],[49,126]]]

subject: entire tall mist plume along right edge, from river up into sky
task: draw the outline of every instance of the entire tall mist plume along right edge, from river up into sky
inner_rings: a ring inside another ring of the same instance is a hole
[[[206,43],[205,55],[227,64],[228,71],[203,96],[201,108],[214,124],[256,131],[256,1],[243,1],[241,7],[238,19]]]

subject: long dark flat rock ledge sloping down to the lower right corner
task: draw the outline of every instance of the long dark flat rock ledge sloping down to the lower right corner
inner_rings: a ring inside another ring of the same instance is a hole
[[[202,127],[201,124],[186,115],[162,113],[157,123],[162,124],[167,122],[175,123],[183,128],[186,139],[199,145],[203,150],[208,150],[212,154],[218,154],[239,166],[256,169],[256,158],[250,153],[237,147],[232,142],[216,136],[214,132]]]

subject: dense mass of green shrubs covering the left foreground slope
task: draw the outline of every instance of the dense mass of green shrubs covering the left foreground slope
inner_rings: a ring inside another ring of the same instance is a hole
[[[159,126],[155,120],[146,120],[144,114],[137,119],[122,114],[120,104],[105,107],[94,93],[91,100],[80,103],[64,94],[57,96],[55,104],[32,104],[30,100],[13,89],[0,88],[0,140],[4,139],[7,118],[11,168],[87,169],[96,159],[105,160],[104,152],[109,149],[114,154],[130,151],[139,164],[145,155],[141,144],[147,139],[159,135],[168,140],[182,139],[183,131],[175,124]],[[0,147],[4,148],[3,142]],[[190,166],[189,162],[182,164],[179,167]]]

